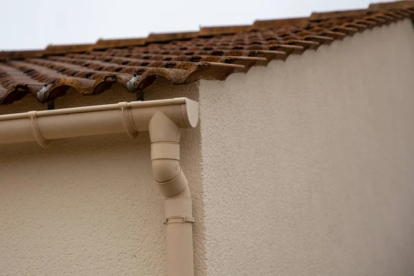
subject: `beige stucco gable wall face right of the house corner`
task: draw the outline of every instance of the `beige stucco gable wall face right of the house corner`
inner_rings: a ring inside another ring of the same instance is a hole
[[[208,275],[413,275],[406,20],[201,81]]]

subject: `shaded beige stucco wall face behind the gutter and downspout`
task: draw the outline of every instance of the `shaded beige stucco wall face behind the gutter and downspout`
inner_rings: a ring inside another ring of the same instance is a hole
[[[57,107],[133,100],[119,90],[77,92]],[[147,99],[189,97],[197,86],[148,91]],[[26,97],[0,113],[44,110]],[[202,217],[199,129],[183,130],[182,168]],[[148,132],[0,146],[0,275],[165,275],[162,197],[152,177]],[[194,227],[197,274],[205,270],[203,221]]]

